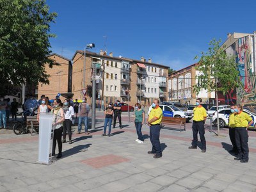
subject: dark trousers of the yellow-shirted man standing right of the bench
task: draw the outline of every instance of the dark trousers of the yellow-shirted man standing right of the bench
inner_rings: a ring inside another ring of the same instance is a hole
[[[197,147],[197,141],[198,141],[197,133],[199,132],[200,140],[202,143],[202,150],[206,150],[206,141],[205,141],[205,137],[204,137],[204,133],[205,133],[204,122],[203,121],[202,122],[193,121],[192,130],[193,130],[192,146]]]

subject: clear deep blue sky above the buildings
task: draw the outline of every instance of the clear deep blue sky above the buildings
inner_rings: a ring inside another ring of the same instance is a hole
[[[100,49],[166,65],[174,70],[196,63],[216,38],[253,33],[255,0],[47,0],[58,13],[51,24],[51,50],[71,59],[94,43]]]

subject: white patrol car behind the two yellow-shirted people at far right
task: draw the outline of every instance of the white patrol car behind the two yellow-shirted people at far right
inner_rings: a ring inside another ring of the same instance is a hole
[[[243,110],[244,113],[247,113],[248,115],[252,116],[253,125],[250,127],[251,129],[256,129],[256,114],[252,113],[252,111],[249,111],[247,109]],[[225,126],[228,126],[228,119],[229,114],[231,113],[230,109],[220,109],[219,110],[219,122],[220,122],[220,128],[223,128]],[[212,123],[214,125],[217,125],[217,112],[215,112],[212,116]]]

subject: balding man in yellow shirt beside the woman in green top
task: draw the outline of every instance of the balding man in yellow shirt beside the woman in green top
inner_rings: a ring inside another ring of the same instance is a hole
[[[162,151],[160,146],[160,130],[161,122],[163,118],[163,111],[159,108],[159,100],[154,99],[152,103],[152,109],[148,116],[148,126],[150,126],[150,142],[152,144],[152,150],[148,151],[148,154],[154,154],[154,158],[162,157]]]

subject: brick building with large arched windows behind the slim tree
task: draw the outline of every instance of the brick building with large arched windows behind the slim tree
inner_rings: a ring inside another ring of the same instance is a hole
[[[202,89],[198,95],[193,92],[193,86],[198,83],[196,76],[200,76],[200,71],[196,70],[196,65],[189,65],[170,74],[168,79],[168,97],[173,102],[183,104],[195,104],[196,98],[202,98],[206,104],[215,104],[215,93]]]

